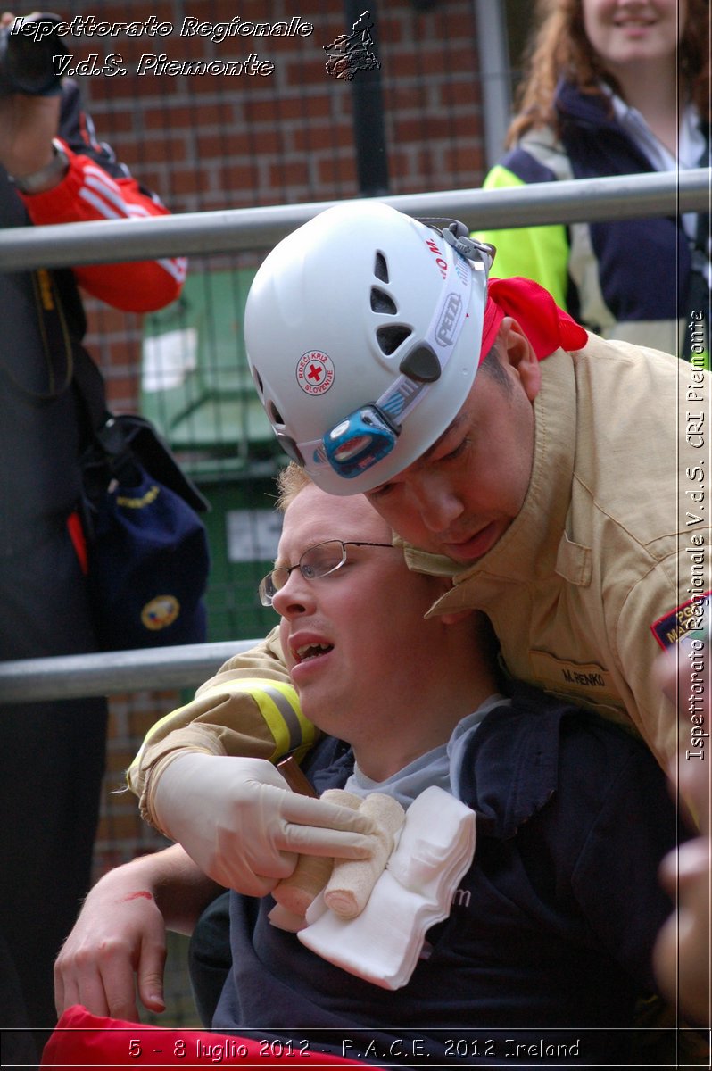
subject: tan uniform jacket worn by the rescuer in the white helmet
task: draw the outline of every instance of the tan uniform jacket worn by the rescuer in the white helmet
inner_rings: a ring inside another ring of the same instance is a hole
[[[542,377],[521,512],[430,613],[485,610],[514,677],[634,726],[664,763],[680,739],[691,745],[691,723],[682,699],[678,719],[653,679],[661,646],[651,627],[671,615],[658,632],[677,638],[685,621],[678,607],[712,586],[710,377],[668,355],[595,336],[579,352],[548,357]],[[690,474],[699,472],[701,482]],[[416,570],[454,569],[412,547],[406,556]],[[236,670],[238,680],[288,687],[279,659],[271,633],[151,729],[128,773],[149,819],[147,774],[160,774],[177,749],[277,757],[274,720],[234,687]],[[290,743],[308,746],[313,737],[298,740],[298,725],[307,723],[293,722]]]

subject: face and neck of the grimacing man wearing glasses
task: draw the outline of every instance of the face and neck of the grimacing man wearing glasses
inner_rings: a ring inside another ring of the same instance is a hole
[[[286,510],[275,562],[285,568],[272,605],[304,714],[349,742],[374,780],[444,743],[473,709],[467,695],[451,709],[473,630],[469,618],[425,619],[443,582],[408,570],[362,495],[337,498],[313,485]]]

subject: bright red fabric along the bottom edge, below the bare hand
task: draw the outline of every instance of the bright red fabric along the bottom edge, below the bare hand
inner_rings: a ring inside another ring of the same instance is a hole
[[[365,1067],[358,1060],[327,1056],[292,1042],[255,1041],[212,1030],[143,1026],[106,1015],[92,1015],[75,1005],[67,1008],[45,1045],[42,1067]],[[370,1067],[370,1065],[369,1065]],[[372,1069],[377,1071],[377,1069]]]

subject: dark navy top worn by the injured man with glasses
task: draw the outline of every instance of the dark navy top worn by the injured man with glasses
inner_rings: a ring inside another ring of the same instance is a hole
[[[328,739],[307,772],[323,791],[352,765]],[[662,771],[624,730],[531,689],[486,716],[464,770],[474,861],[409,983],[391,992],[339,969],[270,924],[271,897],[232,893],[216,1028],[410,1067],[625,1061],[671,910],[657,881],[677,840]]]

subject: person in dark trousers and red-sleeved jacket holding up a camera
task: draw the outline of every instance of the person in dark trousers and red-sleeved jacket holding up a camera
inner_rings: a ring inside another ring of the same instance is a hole
[[[167,211],[99,142],[75,82],[0,95],[1,227]],[[80,288],[146,312],[178,297],[185,267],[179,258],[0,274],[2,660],[97,650],[77,513],[89,433],[73,378],[86,331]],[[54,960],[91,881],[106,719],[103,698],[0,710],[0,932],[32,1027],[56,1022]]]

